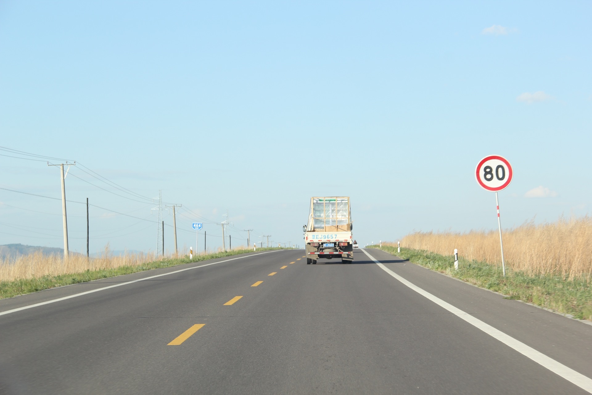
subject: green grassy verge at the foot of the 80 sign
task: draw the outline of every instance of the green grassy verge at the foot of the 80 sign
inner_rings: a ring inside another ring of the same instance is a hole
[[[574,318],[592,321],[592,284],[585,278],[564,280],[560,276],[526,275],[521,271],[506,268],[503,277],[501,266],[486,262],[468,261],[459,258],[459,269],[454,269],[453,256],[392,246],[369,246],[392,253],[413,264],[445,273],[487,290],[507,295],[509,299],[526,301],[559,313],[571,314]]]

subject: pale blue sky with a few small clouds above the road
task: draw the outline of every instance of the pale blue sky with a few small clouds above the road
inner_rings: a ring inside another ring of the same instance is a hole
[[[2,1],[0,146],[162,190],[184,205],[179,247],[195,245],[192,220],[221,245],[226,210],[233,245],[242,229],[301,244],[322,195],[352,198],[360,243],[495,229],[473,175],[487,155],[514,168],[502,226],[583,216],[590,15],[585,1]],[[2,188],[60,197],[44,162],[0,169]],[[155,249],[155,204],[81,169],[69,200],[138,217],[92,207],[91,252]],[[0,244],[63,245],[60,201],[0,190],[0,203]],[[85,206],[68,213],[70,249],[85,251]]]

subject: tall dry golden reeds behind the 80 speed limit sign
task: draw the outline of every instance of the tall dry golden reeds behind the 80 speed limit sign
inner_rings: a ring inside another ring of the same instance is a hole
[[[561,275],[573,280],[592,277],[592,217],[559,219],[555,223],[525,223],[504,230],[506,266],[530,275]],[[396,244],[394,244],[396,245]],[[501,266],[500,236],[490,232],[417,232],[403,237],[401,246],[459,256]]]

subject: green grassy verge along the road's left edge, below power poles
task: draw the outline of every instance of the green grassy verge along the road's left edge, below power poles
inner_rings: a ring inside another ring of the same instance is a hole
[[[279,248],[260,248],[257,249],[257,252],[277,249]],[[184,256],[182,258],[171,258],[163,259],[162,261],[146,262],[140,265],[119,266],[117,268],[109,269],[86,270],[80,273],[2,281],[0,282],[0,298],[9,298],[17,295],[47,290],[48,288],[60,287],[62,285],[78,284],[79,282],[100,280],[101,278],[115,277],[118,275],[131,274],[150,269],[168,268],[170,266],[189,264],[191,262],[201,262],[207,261],[208,259],[224,258],[225,256],[240,255],[247,252],[253,251],[248,249],[215,252],[207,255],[195,255],[193,259],[189,259],[189,256]]]

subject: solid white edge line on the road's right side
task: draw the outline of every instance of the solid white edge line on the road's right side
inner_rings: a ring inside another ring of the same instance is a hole
[[[501,330],[498,330],[498,329],[494,328],[493,326],[482,322],[481,320],[475,318],[474,316],[471,316],[471,314],[465,313],[465,311],[462,311],[461,309],[458,309],[457,307],[452,306],[452,304],[450,304],[450,303],[446,303],[445,301],[443,301],[439,297],[433,296],[429,292],[424,291],[422,288],[417,287],[417,285],[413,284],[412,282],[405,280],[403,277],[401,277],[400,275],[398,275],[397,273],[395,273],[391,269],[388,269],[387,266],[381,264],[379,261],[374,259],[374,257],[372,255],[370,255],[365,249],[361,248],[361,250],[363,251],[363,253],[368,255],[368,258],[372,259],[372,261],[374,261],[375,264],[380,266],[380,268],[382,270],[384,270],[385,272],[390,274],[392,277],[396,278],[398,281],[401,281],[403,284],[407,285],[407,287],[416,291],[418,294],[428,298],[429,300],[436,303],[438,306],[443,307],[444,309],[450,311],[451,313],[455,314],[456,316],[464,319],[469,324],[477,327],[478,329],[481,329],[483,332],[487,333],[488,335],[492,336],[493,338],[496,338],[498,341],[515,349],[517,352],[524,355],[525,357],[532,359],[533,361],[535,361],[539,365],[542,365],[543,367],[554,372],[555,374],[565,378],[565,380],[570,381],[570,383],[573,383],[576,386],[582,388],[584,391],[588,391],[588,393],[592,394],[592,379],[591,378],[589,378],[581,373],[578,373],[577,371],[575,371],[571,368],[568,368],[564,364],[561,364],[560,362],[555,361],[555,359],[547,357],[542,352],[536,351],[534,348],[527,346],[525,343],[517,341],[513,337],[506,335],[506,333],[501,332]]]

